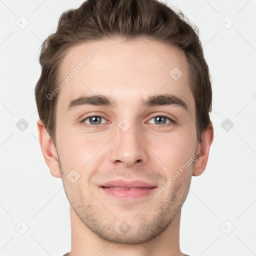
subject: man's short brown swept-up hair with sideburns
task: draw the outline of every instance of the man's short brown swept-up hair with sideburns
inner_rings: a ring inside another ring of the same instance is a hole
[[[60,63],[70,46],[109,36],[127,39],[140,36],[181,49],[188,61],[189,86],[195,101],[196,136],[211,123],[211,82],[198,28],[183,15],[157,0],[86,0],[77,9],[64,11],[55,33],[42,43],[41,75],[35,86],[39,118],[55,145],[57,94],[48,99],[58,84]]]

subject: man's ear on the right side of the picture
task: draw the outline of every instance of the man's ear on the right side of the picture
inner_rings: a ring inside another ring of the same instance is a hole
[[[201,154],[194,161],[193,176],[202,174],[206,168],[210,146],[213,141],[213,134],[213,126],[210,122],[208,128],[201,135],[201,142],[198,143],[197,150],[200,151]]]

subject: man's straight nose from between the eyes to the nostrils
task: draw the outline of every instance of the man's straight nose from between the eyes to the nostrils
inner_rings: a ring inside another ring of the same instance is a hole
[[[123,118],[117,124],[116,136],[111,145],[111,162],[122,162],[129,167],[135,162],[142,164],[147,161],[146,147],[140,141],[139,133],[139,126],[134,119]]]

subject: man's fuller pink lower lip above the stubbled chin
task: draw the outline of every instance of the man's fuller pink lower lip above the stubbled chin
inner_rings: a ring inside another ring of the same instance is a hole
[[[104,190],[107,194],[110,194],[116,197],[127,198],[127,199],[146,196],[152,193],[155,188],[156,187],[152,187],[152,188],[146,187],[146,188],[129,190],[129,189],[115,189],[115,188],[109,188],[109,187],[100,187],[100,189]]]

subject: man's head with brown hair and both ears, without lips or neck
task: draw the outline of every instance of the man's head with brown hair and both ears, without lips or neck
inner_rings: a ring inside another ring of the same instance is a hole
[[[196,27],[156,0],[87,0],[61,15],[40,64],[41,148],[77,216],[109,241],[157,236],[205,169],[213,139]],[[154,188],[120,200],[103,188],[117,178]]]

